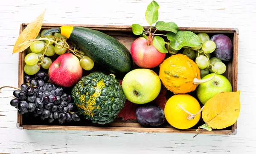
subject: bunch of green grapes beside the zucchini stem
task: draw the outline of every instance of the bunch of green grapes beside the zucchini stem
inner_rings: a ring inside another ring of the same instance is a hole
[[[47,31],[47,29],[41,31],[35,41],[33,41],[26,49],[27,55],[24,59],[26,63],[24,72],[28,75],[38,73],[41,67],[49,69],[52,64],[52,60],[49,57],[54,56],[55,54],[62,55],[66,53],[68,49],[71,50],[65,41],[67,39],[66,37],[58,33],[54,33],[54,35],[50,33],[44,36],[45,31]],[[77,50],[72,50],[73,53],[76,51]],[[83,56],[83,54],[75,55],[80,58],[80,65],[84,70],[93,68],[94,63],[89,57]]]

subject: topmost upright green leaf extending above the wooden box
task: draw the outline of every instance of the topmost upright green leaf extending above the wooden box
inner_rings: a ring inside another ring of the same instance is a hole
[[[159,7],[160,6],[154,0],[148,5],[145,17],[149,25],[152,25],[153,23],[157,22]]]

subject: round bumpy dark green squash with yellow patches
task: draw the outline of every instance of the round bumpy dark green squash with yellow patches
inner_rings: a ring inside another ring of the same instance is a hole
[[[82,77],[71,95],[79,114],[99,124],[113,122],[126,99],[116,78],[99,72]]]

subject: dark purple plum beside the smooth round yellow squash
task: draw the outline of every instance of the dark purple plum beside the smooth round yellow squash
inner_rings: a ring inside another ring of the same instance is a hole
[[[136,109],[136,118],[140,125],[157,127],[165,122],[164,111],[157,105],[143,105]]]

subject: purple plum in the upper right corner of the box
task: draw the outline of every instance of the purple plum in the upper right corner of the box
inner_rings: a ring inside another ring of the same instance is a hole
[[[216,49],[213,51],[215,57],[223,61],[232,59],[233,43],[227,35],[215,34],[211,37],[211,41],[216,44]]]

